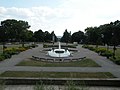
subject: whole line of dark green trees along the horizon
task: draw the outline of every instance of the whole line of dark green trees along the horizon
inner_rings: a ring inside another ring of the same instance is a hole
[[[29,30],[27,21],[7,19],[1,21],[0,42],[53,42],[58,41],[54,31],[39,29],[33,32]],[[87,27],[85,32],[78,31],[71,34],[67,29],[63,32],[61,42],[95,45],[119,45],[120,44],[120,21],[116,20],[99,27]]]

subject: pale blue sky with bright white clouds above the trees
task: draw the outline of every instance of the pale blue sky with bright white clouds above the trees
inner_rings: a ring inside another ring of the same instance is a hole
[[[24,20],[30,30],[72,33],[120,20],[120,0],[0,0],[0,21]]]

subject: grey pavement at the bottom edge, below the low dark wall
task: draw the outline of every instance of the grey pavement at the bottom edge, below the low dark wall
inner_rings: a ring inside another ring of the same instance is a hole
[[[5,90],[35,90],[34,85],[8,85],[6,86]],[[52,90],[50,89],[54,88],[53,90],[66,90],[64,86],[46,86],[45,90]],[[120,90],[120,87],[85,87],[83,89],[80,88],[80,90]]]

